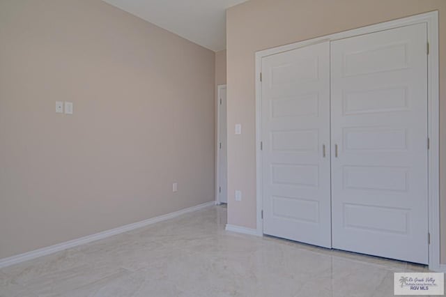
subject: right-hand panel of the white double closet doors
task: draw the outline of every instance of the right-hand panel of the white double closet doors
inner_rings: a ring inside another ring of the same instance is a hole
[[[331,50],[333,248],[427,264],[426,24]]]

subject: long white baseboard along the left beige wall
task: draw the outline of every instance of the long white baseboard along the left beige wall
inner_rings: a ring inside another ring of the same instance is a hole
[[[85,243],[91,243],[92,241],[98,241],[99,239],[107,238],[109,236],[121,234],[126,231],[145,227],[145,226],[148,226],[149,224],[155,224],[157,222],[162,222],[165,220],[169,220],[171,218],[176,218],[179,215],[184,215],[185,213],[192,213],[192,211],[198,211],[202,208],[206,208],[206,207],[213,206],[213,205],[215,205],[215,201],[206,202],[203,204],[199,204],[197,206],[184,208],[184,209],[181,209],[180,211],[174,211],[173,213],[167,213],[166,215],[160,215],[158,217],[144,220],[141,222],[135,222],[133,224],[126,224],[124,226],[117,227],[114,229],[109,229],[109,230],[102,231],[102,232],[99,232],[96,234],[91,234],[89,236],[84,236],[81,238],[73,239],[72,241],[66,241],[64,243],[50,245],[49,247],[46,247],[46,248],[40,248],[38,250],[32,250],[31,252],[25,252],[23,254],[17,254],[12,257],[3,258],[3,259],[0,259],[0,268],[10,266],[13,264],[18,264],[23,261],[36,259],[38,257],[42,257],[47,254],[52,254],[54,252],[60,252],[61,250],[66,250],[68,248],[74,248],[78,245],[83,245]]]

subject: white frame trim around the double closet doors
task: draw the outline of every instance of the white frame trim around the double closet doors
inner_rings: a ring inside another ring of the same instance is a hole
[[[370,26],[363,26],[339,33],[330,34],[303,40],[298,43],[282,45],[268,50],[255,53],[256,59],[256,234],[263,236],[263,193],[262,193],[262,158],[261,158],[261,65],[263,57],[279,54],[289,50],[295,50],[307,45],[321,43],[323,41],[334,41],[343,38],[360,36],[400,26],[426,23],[427,40],[427,79],[428,79],[428,137],[430,148],[428,151],[428,207],[429,207],[429,234],[431,244],[429,245],[429,269],[432,271],[443,271],[445,265],[440,264],[440,113],[439,113],[439,78],[438,78],[438,10],[410,17],[403,17]],[[426,238],[427,240],[427,238]]]

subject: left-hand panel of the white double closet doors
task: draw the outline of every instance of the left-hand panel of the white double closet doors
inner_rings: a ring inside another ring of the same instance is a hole
[[[267,56],[262,75],[263,233],[330,248],[330,44]]]

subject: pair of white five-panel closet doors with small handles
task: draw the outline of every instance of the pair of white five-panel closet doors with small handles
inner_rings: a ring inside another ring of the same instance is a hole
[[[426,25],[262,60],[263,233],[428,263]]]

